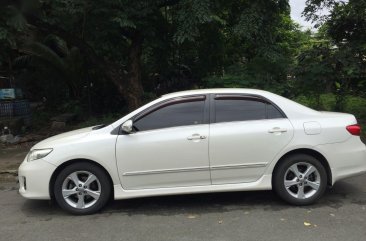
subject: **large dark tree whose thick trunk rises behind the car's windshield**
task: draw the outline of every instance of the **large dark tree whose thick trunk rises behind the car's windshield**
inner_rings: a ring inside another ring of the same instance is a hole
[[[178,75],[185,70],[195,73],[192,78],[218,74],[236,61],[229,55],[237,50],[243,49],[248,60],[278,53],[270,53],[278,38],[272,27],[289,13],[287,0],[29,0],[18,9],[32,32],[30,40],[52,34],[79,49],[87,66],[117,87],[129,109],[141,105],[147,54],[166,48],[154,63],[178,68]]]

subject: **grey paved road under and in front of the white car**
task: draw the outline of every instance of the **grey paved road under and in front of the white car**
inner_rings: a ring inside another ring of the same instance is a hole
[[[0,240],[366,240],[366,175],[339,182],[316,205],[292,207],[272,192],[111,202],[71,216],[0,185]],[[307,222],[306,226],[304,222]]]

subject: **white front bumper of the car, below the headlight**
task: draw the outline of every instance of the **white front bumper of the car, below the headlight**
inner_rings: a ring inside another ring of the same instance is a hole
[[[50,199],[49,183],[56,166],[42,159],[20,165],[19,193],[29,199]]]

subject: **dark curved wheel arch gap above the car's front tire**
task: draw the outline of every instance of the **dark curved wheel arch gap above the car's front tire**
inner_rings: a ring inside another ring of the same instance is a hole
[[[51,179],[50,179],[50,183],[49,183],[49,193],[50,193],[50,197],[52,200],[54,200],[55,198],[55,195],[54,195],[54,184],[55,184],[55,181],[56,181],[56,178],[57,178],[57,175],[67,166],[70,166],[74,163],[79,163],[79,162],[84,162],[84,163],[89,163],[89,164],[93,164],[93,165],[96,165],[98,167],[100,167],[104,173],[107,175],[108,179],[109,179],[109,182],[111,184],[111,197],[110,198],[113,198],[114,197],[114,188],[113,188],[113,180],[112,180],[112,177],[111,175],[109,174],[109,172],[107,171],[107,169],[105,167],[103,167],[102,165],[100,165],[98,162],[95,162],[93,160],[90,160],[90,159],[84,159],[84,158],[78,158],[78,159],[71,159],[71,160],[68,160],[64,163],[62,163],[61,165],[59,165],[56,170],[52,173],[52,176],[51,176]]]

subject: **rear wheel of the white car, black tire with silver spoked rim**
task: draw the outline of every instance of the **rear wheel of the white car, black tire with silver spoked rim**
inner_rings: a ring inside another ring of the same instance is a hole
[[[284,201],[297,206],[310,205],[324,194],[327,173],[315,157],[295,154],[286,157],[275,169],[272,184]]]

